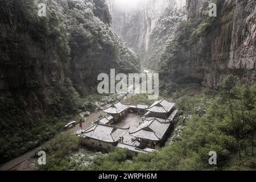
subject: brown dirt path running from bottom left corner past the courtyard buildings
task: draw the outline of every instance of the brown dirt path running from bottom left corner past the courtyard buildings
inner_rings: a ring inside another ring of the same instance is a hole
[[[91,126],[91,123],[93,121],[96,121],[98,117],[104,116],[105,113],[102,111],[97,113],[91,113],[86,119],[86,122],[82,123],[83,129],[88,129]],[[71,129],[68,129],[66,131],[63,131],[63,133],[75,133],[77,130],[79,130],[79,125],[76,127],[73,127]],[[43,143],[46,144],[50,142],[51,140]],[[41,146],[43,145],[41,144]],[[18,171],[31,171],[35,169],[34,164],[36,163],[37,159],[32,158],[35,155],[36,148],[34,148],[31,151],[26,152],[23,155],[18,156],[15,159],[10,160],[9,162],[2,164],[0,166],[0,171],[9,171],[9,170],[18,170]]]

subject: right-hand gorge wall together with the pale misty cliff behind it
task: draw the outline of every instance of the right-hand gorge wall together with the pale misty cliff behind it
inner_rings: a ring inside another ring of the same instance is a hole
[[[214,89],[230,75],[255,82],[255,1],[109,1],[113,30],[162,80]],[[212,2],[217,17],[208,15]]]

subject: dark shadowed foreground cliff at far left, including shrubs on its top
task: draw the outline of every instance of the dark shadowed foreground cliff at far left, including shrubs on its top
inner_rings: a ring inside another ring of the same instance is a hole
[[[65,63],[53,43],[54,38],[46,35],[44,28],[32,28],[44,24],[42,19],[34,18],[33,14],[26,15],[21,8],[22,2],[1,3],[0,92],[4,97],[6,91],[24,91],[27,100],[20,103],[23,109],[27,113],[28,110],[44,113],[47,106],[55,104],[51,93],[56,84],[64,82]],[[32,1],[27,3],[33,6]],[[35,93],[37,89],[40,89],[41,99]]]

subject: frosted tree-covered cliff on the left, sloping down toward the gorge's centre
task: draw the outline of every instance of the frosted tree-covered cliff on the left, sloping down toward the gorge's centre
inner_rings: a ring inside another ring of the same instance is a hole
[[[88,86],[97,83],[97,76],[110,73],[110,69],[140,72],[138,56],[109,27],[111,16],[105,0],[77,1],[59,10],[66,19],[73,19],[74,12],[84,17],[66,23],[71,32],[71,78],[79,93],[85,95]]]

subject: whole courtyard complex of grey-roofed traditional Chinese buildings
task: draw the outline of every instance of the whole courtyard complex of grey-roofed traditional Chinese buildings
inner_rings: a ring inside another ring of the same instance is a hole
[[[129,155],[138,152],[152,152],[156,146],[162,146],[171,134],[177,110],[174,103],[166,99],[155,101],[151,106],[138,104],[125,105],[117,102],[105,109],[107,117],[98,119],[97,125],[78,133],[84,138],[84,144],[94,150],[113,151],[116,146],[127,148]],[[127,113],[137,113],[142,116],[142,122],[136,130],[130,131],[115,127],[114,123],[122,121]],[[129,133],[128,133],[129,132]],[[124,138],[129,140],[123,140]],[[124,143],[125,142],[125,143]]]

